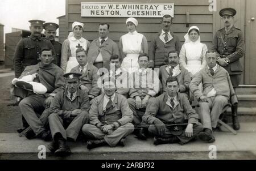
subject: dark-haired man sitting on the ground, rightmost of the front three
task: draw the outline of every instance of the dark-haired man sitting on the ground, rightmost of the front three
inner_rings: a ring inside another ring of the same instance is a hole
[[[185,144],[196,139],[203,130],[198,114],[187,97],[179,92],[179,82],[172,76],[166,80],[166,92],[150,99],[143,121],[150,124],[148,131],[155,135],[154,144]]]

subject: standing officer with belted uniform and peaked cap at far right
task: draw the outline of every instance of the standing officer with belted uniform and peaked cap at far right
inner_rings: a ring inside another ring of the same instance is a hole
[[[244,39],[242,31],[233,25],[234,15],[236,15],[236,10],[233,8],[220,10],[224,28],[218,30],[214,36],[212,50],[217,53],[218,64],[229,72],[232,85],[236,89],[243,71],[239,59],[244,54]],[[237,105],[232,106],[233,128],[235,130],[240,129],[237,108]]]

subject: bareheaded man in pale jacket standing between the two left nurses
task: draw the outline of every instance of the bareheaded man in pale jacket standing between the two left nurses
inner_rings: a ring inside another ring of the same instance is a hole
[[[88,50],[89,62],[98,69],[104,67],[109,70],[109,59],[114,54],[119,56],[119,49],[117,44],[108,37],[108,23],[100,23],[98,32],[100,37],[92,41]]]

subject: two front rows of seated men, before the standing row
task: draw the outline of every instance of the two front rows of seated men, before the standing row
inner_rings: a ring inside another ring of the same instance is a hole
[[[139,139],[146,139],[146,133],[154,135],[156,145],[185,144],[197,135],[212,143],[212,128],[217,126],[218,117],[230,102],[237,104],[229,74],[217,65],[215,53],[207,53],[208,65],[189,84],[190,77],[179,67],[177,53],[170,52],[170,65],[159,71],[162,85],[157,73],[148,69],[146,54],[139,55],[139,71],[130,76],[119,68],[119,59],[113,56],[110,71],[101,78],[87,62],[84,50],[78,49],[76,54],[79,66],[72,69],[76,72],[65,75],[52,63],[51,49],[42,50],[38,65],[26,67],[22,76],[38,73],[35,82],[47,88],[44,95],[24,93],[27,84],[23,89],[14,87],[13,94],[23,98],[19,107],[30,125],[26,137],[52,138],[49,149],[56,155],[68,154],[70,149],[65,142],[76,141],[80,131],[88,139],[88,149],[107,144],[124,146],[125,137],[132,132]],[[97,79],[102,80],[103,86],[95,85]],[[201,82],[203,92],[198,88]],[[189,104],[185,93],[188,87],[199,100],[203,125]],[[45,110],[38,112],[38,108]],[[51,131],[47,131],[48,126]]]

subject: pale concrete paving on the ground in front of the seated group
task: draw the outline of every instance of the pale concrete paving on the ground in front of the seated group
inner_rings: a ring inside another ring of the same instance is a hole
[[[255,123],[241,123],[241,130],[238,131],[237,135],[233,135],[231,132],[213,132],[216,141],[214,143],[208,144],[196,140],[195,142],[190,142],[183,146],[179,144],[162,144],[159,146],[154,146],[153,139],[148,138],[147,140],[138,140],[134,135],[129,135],[125,142],[125,147],[98,147],[91,150],[86,148],[85,142],[68,142],[71,148],[72,154],[82,156],[87,156],[84,159],[90,159],[90,155],[98,155],[104,158],[104,156],[117,154],[120,156],[130,156],[130,159],[134,159],[133,156],[138,154],[146,153],[148,155],[143,155],[141,159],[152,159],[152,155],[158,156],[160,153],[173,153],[180,154],[185,153],[188,156],[194,153],[201,152],[204,155],[204,159],[209,159],[209,146],[215,145],[217,148],[217,153],[230,153],[230,152],[245,152],[246,154],[253,154],[254,159],[256,159],[256,124]],[[44,142],[40,139],[28,140],[23,137],[19,137],[18,134],[0,134],[0,159],[4,159],[5,156],[15,155],[31,155],[33,159],[38,159],[38,152],[40,151],[38,147],[44,145],[47,147],[49,142]],[[47,157],[49,156],[49,151],[46,149]],[[134,154],[134,155],[131,155]],[[1,157],[2,156],[2,157]],[[72,155],[71,155],[72,156]],[[116,155],[115,155],[116,156]],[[151,156],[151,157],[150,157]],[[26,159],[26,157],[25,157]],[[115,158],[120,159],[120,158]],[[122,158],[121,158],[122,159]],[[158,159],[158,158],[156,158]],[[194,159],[197,159],[196,157]],[[201,159],[201,158],[200,158]],[[226,158],[230,159],[230,158]]]

